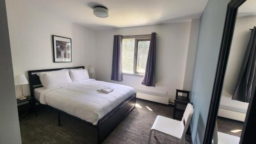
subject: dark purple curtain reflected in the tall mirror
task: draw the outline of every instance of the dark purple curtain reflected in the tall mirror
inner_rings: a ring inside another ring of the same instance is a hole
[[[256,27],[251,32],[251,37],[245,52],[240,70],[238,84],[232,100],[249,103],[252,94],[252,85],[256,66]]]

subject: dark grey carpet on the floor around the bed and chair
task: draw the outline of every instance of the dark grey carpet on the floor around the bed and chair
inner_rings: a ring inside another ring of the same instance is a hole
[[[157,115],[172,117],[173,107],[137,99],[136,107],[103,143],[147,143],[150,128]],[[148,108],[146,108],[146,106]],[[140,108],[141,107],[141,108]],[[61,115],[57,124],[56,111],[40,107],[38,116],[28,113],[19,118],[23,143],[97,143],[97,131],[75,118]],[[152,143],[181,143],[170,136],[156,133]],[[186,143],[190,143],[186,137]]]

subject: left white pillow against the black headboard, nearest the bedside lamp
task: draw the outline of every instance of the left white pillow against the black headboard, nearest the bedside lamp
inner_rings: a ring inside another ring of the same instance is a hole
[[[42,78],[41,83],[42,83],[42,86],[44,86],[45,88],[51,88],[55,86],[72,83],[72,80],[70,79],[70,76],[69,76],[69,71],[67,70],[51,71],[50,73],[42,73],[40,74],[40,78]]]

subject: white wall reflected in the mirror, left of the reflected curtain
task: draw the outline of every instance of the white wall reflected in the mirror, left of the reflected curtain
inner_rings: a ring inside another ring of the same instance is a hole
[[[256,16],[239,17],[236,21],[227,69],[223,84],[223,94],[232,97],[236,89],[240,69],[250,39],[251,31],[256,26]]]

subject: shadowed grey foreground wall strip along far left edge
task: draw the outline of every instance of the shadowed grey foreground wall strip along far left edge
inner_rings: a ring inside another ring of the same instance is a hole
[[[0,143],[22,143],[15,99],[5,1],[0,1]]]

